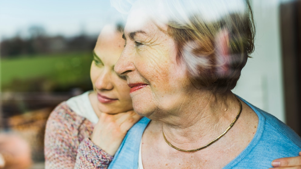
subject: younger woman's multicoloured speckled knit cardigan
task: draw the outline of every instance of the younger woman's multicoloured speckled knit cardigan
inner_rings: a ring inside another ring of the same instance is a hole
[[[94,125],[62,102],[50,114],[45,132],[45,168],[107,168],[113,156],[90,141]]]

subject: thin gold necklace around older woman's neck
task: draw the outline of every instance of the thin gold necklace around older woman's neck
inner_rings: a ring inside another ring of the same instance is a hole
[[[238,100],[239,102],[239,105],[240,105],[240,108],[239,108],[239,111],[238,111],[238,114],[237,116],[235,117],[235,119],[233,120],[233,122],[230,124],[230,126],[221,134],[219,135],[216,139],[214,139],[213,141],[209,142],[208,144],[206,144],[205,146],[203,147],[200,147],[200,148],[197,148],[197,149],[194,149],[194,150],[183,150],[183,149],[180,149],[180,148],[177,148],[175,146],[173,146],[172,144],[170,144],[169,141],[166,140],[166,137],[164,135],[164,132],[163,132],[163,129],[162,129],[162,133],[163,133],[163,137],[164,137],[164,140],[167,142],[168,145],[170,145],[171,147],[173,147],[174,149],[176,150],[179,150],[179,151],[185,151],[185,152],[192,152],[192,151],[199,151],[201,149],[204,149],[206,147],[209,147],[212,143],[214,143],[215,141],[218,141],[221,137],[223,137],[230,128],[232,128],[232,126],[234,125],[234,123],[236,122],[236,120],[238,119],[240,113],[242,112],[242,103],[239,101],[239,99],[235,96],[235,98]]]

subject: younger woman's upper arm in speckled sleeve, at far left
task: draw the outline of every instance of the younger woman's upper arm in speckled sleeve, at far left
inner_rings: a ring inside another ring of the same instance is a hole
[[[78,122],[66,104],[50,114],[45,131],[45,168],[73,168],[78,142]]]

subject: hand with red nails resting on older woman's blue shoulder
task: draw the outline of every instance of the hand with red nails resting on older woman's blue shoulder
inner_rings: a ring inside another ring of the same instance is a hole
[[[272,166],[278,169],[297,169],[301,168],[301,151],[297,157],[279,158],[272,161]]]

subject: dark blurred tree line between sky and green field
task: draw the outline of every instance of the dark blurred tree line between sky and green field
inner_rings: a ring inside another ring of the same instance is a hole
[[[0,57],[17,58],[25,55],[92,50],[97,39],[97,36],[88,36],[84,32],[68,38],[62,35],[49,36],[42,26],[32,26],[28,33],[28,38],[17,34],[3,39],[0,43]]]

